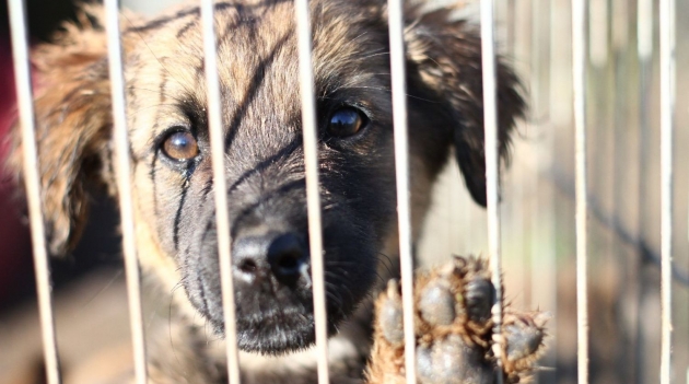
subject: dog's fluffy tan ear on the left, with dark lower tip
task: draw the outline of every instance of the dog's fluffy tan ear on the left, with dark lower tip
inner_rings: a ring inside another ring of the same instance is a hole
[[[110,97],[104,33],[92,19],[67,25],[55,44],[37,47],[35,67],[37,166],[49,251],[62,254],[79,238],[87,189],[103,185],[109,164]],[[20,129],[10,167],[21,173]]]

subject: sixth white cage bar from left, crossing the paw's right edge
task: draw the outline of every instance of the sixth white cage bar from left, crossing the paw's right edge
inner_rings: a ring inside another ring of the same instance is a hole
[[[483,121],[486,127],[486,200],[488,208],[488,248],[492,282],[495,287],[495,303],[492,307],[493,316],[493,353],[498,358],[498,365],[502,366],[502,255],[500,247],[500,159],[498,139],[498,104],[495,90],[495,25],[493,19],[493,0],[481,1],[481,65],[483,73]],[[498,372],[497,382],[502,384],[502,369]]]

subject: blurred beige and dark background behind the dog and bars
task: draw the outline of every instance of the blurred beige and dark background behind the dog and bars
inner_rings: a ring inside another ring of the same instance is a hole
[[[653,383],[659,372],[658,4],[591,0],[588,25],[588,257],[592,383]],[[124,1],[154,14],[178,1]],[[448,1],[443,1],[448,2]],[[530,106],[503,172],[506,298],[553,315],[538,383],[576,382],[574,129],[571,3],[495,0],[500,51]],[[30,0],[32,40],[73,18],[73,3]],[[477,15],[476,4],[465,12]],[[652,35],[639,28],[652,21]],[[689,382],[689,2],[677,2],[673,259],[673,376]],[[643,21],[642,24],[643,25]],[[641,33],[641,36],[639,33]],[[15,118],[7,4],[0,4],[0,135]],[[4,140],[3,140],[4,142]],[[1,154],[7,146],[0,147]],[[486,254],[486,213],[453,162],[435,190],[418,253],[428,265]],[[21,193],[0,183],[0,383],[39,372],[40,334]],[[113,201],[96,199],[81,245],[51,260],[58,345],[66,366],[127,342],[126,292]],[[212,342],[212,341],[211,341]],[[39,377],[36,381],[39,382]]]

